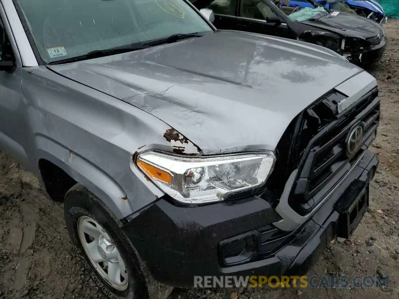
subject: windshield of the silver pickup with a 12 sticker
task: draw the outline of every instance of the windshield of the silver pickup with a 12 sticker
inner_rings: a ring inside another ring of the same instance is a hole
[[[14,0],[45,63],[212,28],[184,0]]]

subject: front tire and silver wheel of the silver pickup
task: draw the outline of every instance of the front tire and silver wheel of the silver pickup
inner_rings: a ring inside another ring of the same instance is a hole
[[[150,298],[150,281],[146,278],[140,258],[119,228],[118,220],[99,198],[82,185],[76,184],[65,195],[64,216],[80,262],[107,298]],[[96,239],[90,234],[96,235]],[[104,259],[104,262],[95,262]],[[126,269],[124,275],[123,268]],[[111,275],[113,273],[115,275]]]

